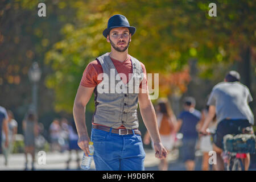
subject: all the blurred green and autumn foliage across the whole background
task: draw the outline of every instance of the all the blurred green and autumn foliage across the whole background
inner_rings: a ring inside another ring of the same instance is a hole
[[[102,31],[114,14],[125,15],[137,27],[129,53],[146,65],[148,73],[163,78],[160,96],[186,91],[193,80],[189,77],[191,60],[197,60],[201,77],[214,82],[220,81],[231,64],[247,70],[242,78],[256,64],[254,1],[214,1],[217,17],[208,15],[211,1],[203,0],[43,2],[47,17],[42,18],[37,15],[38,1],[0,2],[0,100],[19,113],[31,102],[27,72],[33,61],[43,69],[40,113],[53,106],[56,111],[72,113],[86,65],[110,51]]]

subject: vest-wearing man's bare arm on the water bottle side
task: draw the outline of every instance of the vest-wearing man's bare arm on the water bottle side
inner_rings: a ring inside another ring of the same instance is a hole
[[[85,108],[92,96],[94,87],[84,87],[79,85],[73,106],[73,117],[76,123],[77,134],[79,135],[78,145],[84,150],[85,155],[89,154],[89,136],[85,125]]]

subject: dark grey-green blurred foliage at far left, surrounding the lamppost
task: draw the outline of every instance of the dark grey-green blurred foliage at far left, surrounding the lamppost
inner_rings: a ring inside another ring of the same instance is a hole
[[[44,114],[54,110],[53,90],[44,84],[52,69],[44,64],[44,56],[53,44],[62,39],[59,34],[61,27],[72,22],[75,16],[73,9],[49,0],[44,1],[47,17],[39,17],[38,3],[30,0],[0,2],[0,105],[13,110],[17,121],[22,121],[32,102],[28,69],[34,61],[38,61],[42,69],[38,84],[39,121]]]

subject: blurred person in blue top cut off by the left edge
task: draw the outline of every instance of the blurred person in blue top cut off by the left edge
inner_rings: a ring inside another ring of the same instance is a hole
[[[5,147],[9,145],[8,134],[8,114],[5,107],[0,106],[0,143],[2,143],[2,131],[5,135]],[[0,154],[2,154],[2,144],[0,144]]]

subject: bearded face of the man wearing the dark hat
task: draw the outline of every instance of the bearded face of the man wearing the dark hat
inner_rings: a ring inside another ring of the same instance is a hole
[[[131,34],[126,27],[118,27],[110,30],[107,41],[118,52],[125,52],[131,42]]]

